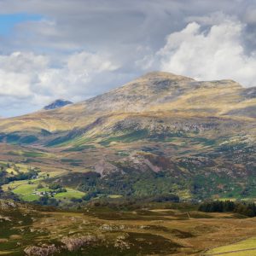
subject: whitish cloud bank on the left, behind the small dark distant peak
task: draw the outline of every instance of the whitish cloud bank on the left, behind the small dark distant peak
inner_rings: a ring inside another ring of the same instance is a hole
[[[19,102],[19,108],[22,104],[27,108],[24,102],[39,108],[58,97],[82,100],[93,94],[89,83],[96,81],[99,73],[117,68],[107,55],[85,51],[67,55],[59,63],[49,55],[32,52],[0,55],[0,106],[6,108],[9,98],[13,98],[9,108],[18,107]]]

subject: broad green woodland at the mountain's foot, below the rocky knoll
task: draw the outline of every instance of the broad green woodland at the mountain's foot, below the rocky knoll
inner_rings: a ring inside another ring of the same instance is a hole
[[[108,174],[108,178],[101,178],[99,173],[88,172],[80,175],[77,188],[90,197],[97,194],[123,195],[123,196],[147,196],[147,195],[168,195],[174,193],[172,184],[181,186],[178,180],[165,172],[138,172],[129,167],[122,167],[124,172]]]

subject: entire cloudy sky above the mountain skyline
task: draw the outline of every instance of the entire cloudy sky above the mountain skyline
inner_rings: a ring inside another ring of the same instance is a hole
[[[256,0],[0,0],[0,116],[150,71],[256,86]]]

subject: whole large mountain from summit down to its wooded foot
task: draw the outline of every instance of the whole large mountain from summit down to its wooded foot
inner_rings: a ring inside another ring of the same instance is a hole
[[[58,183],[101,195],[253,197],[255,109],[255,87],[147,73],[84,102],[0,120],[1,154],[61,168]]]

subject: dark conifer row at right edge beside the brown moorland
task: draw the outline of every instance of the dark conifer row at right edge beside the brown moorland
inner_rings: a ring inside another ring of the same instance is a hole
[[[256,205],[245,201],[205,201],[198,208],[201,212],[236,212],[247,217],[256,216]]]

